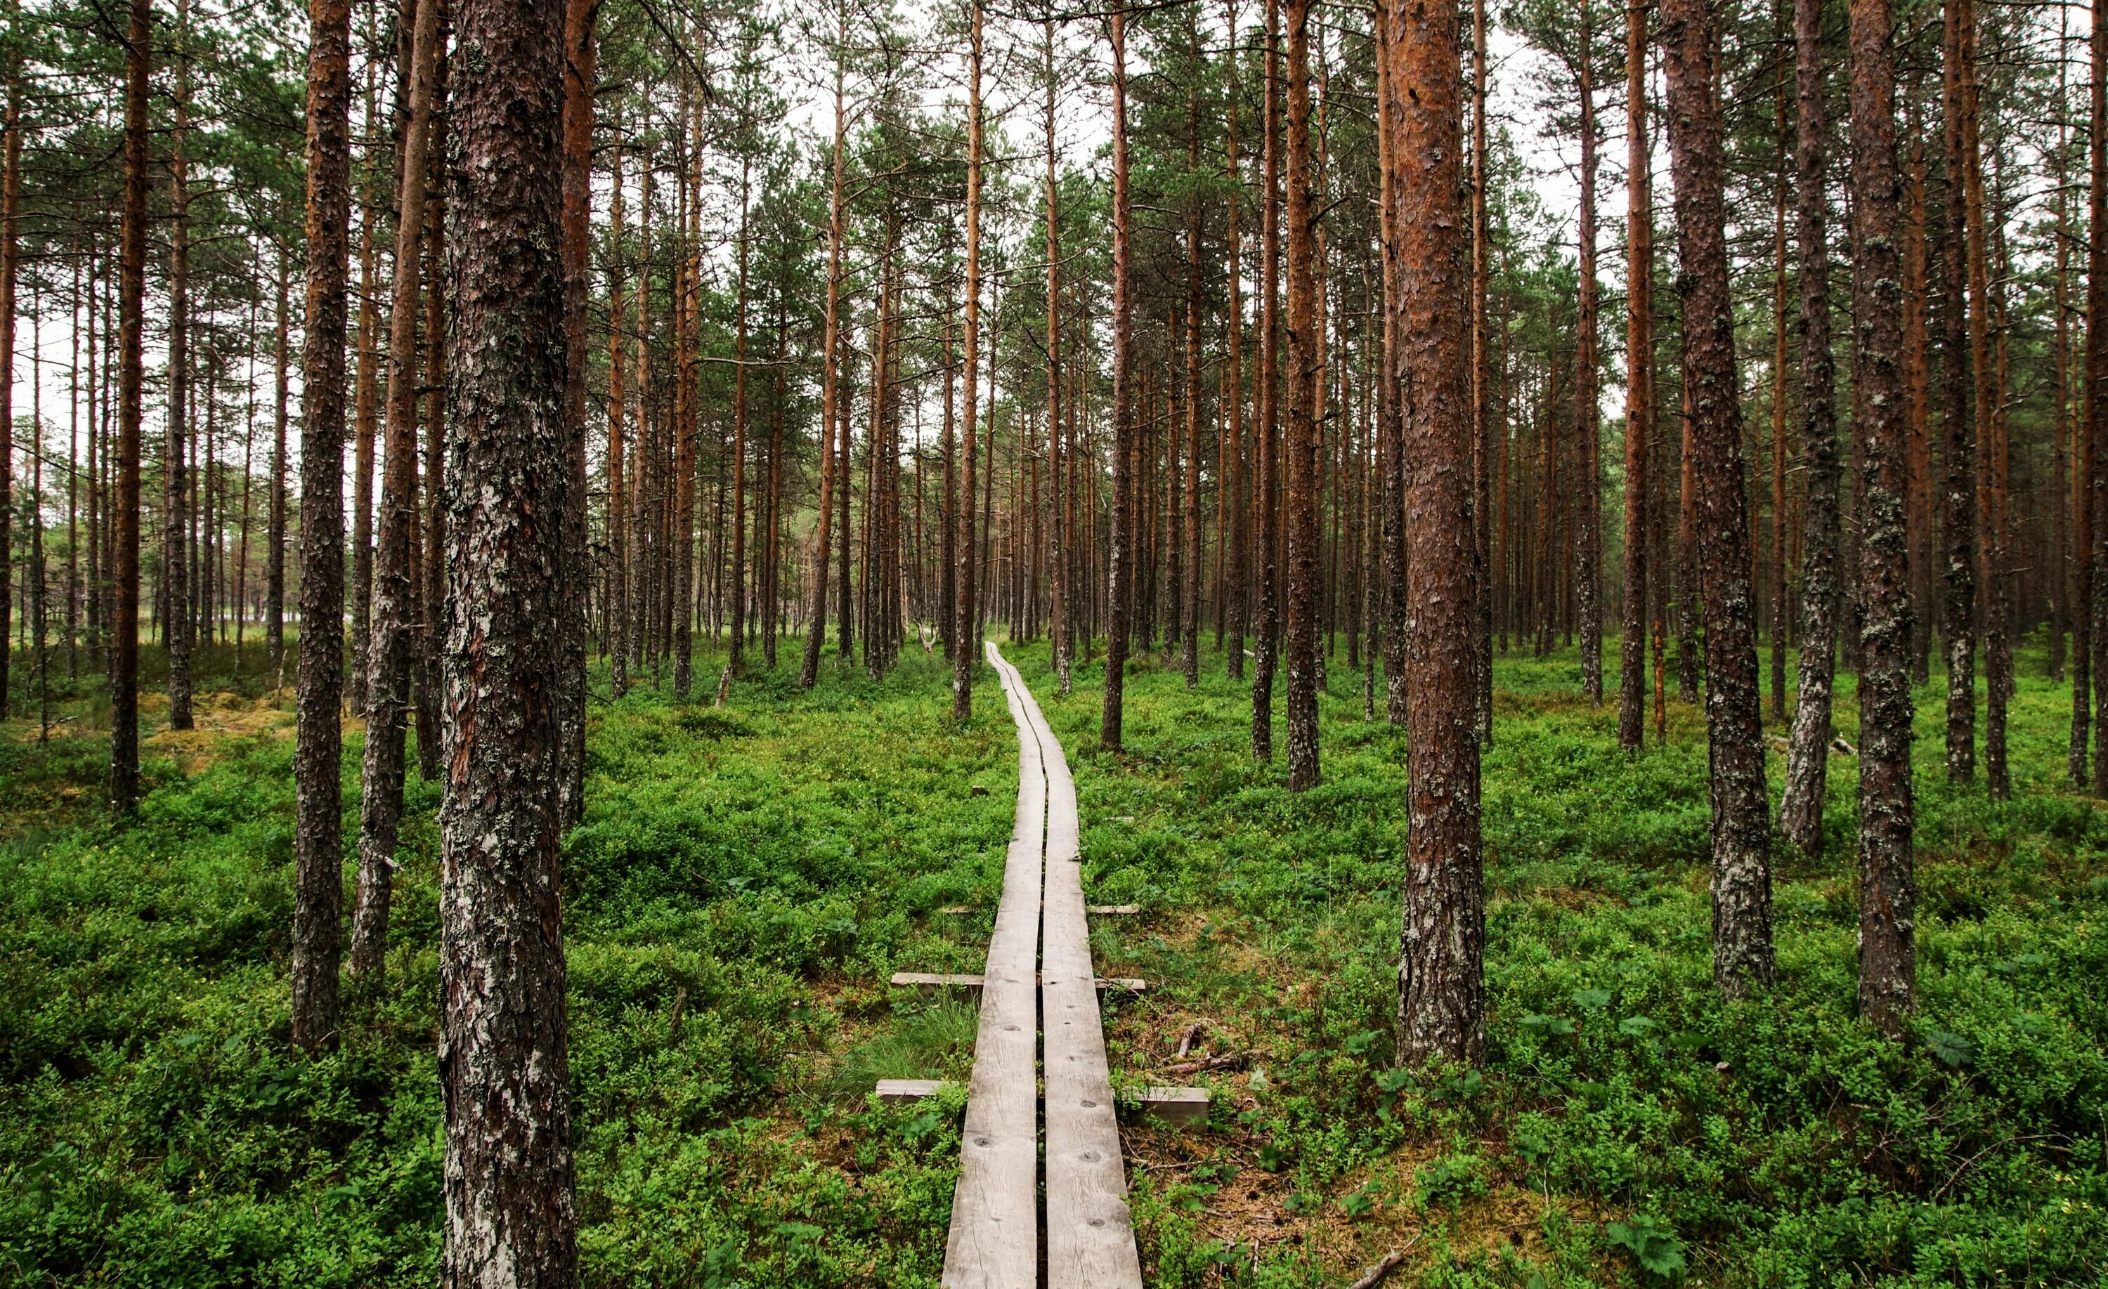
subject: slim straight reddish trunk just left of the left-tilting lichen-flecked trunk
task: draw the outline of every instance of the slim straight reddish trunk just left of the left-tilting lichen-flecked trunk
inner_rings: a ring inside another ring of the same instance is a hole
[[[1646,737],[1646,453],[1655,417],[1655,187],[1646,128],[1646,4],[1625,4],[1625,615],[1617,746]]]

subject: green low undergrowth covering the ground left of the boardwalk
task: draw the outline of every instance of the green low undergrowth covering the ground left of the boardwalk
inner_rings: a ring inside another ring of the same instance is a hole
[[[932,910],[993,906],[1016,743],[1008,720],[961,733],[919,651],[883,682],[828,659],[809,695],[795,661],[727,710],[649,685],[592,708],[565,849],[592,1285],[934,1285],[942,1264],[955,1114],[868,1091],[961,1074],[974,1017],[883,981],[978,969]],[[40,802],[0,842],[0,1285],[430,1285],[436,788],[411,771],[388,988],[348,979],[344,1040],[308,1062],[287,1047],[289,733],[219,739],[194,773],[150,739],[129,830],[53,805],[95,800],[105,737],[23,735],[0,737],[0,798]],[[348,904],[354,872],[348,847]]]

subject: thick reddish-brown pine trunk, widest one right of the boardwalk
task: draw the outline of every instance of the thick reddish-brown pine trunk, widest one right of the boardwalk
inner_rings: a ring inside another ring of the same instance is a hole
[[[1400,1055],[1486,1055],[1486,908],[1480,853],[1478,539],[1471,531],[1471,385],[1463,65],[1455,0],[1389,21],[1398,200],[1395,379],[1404,417],[1406,735],[1410,840],[1398,963]]]

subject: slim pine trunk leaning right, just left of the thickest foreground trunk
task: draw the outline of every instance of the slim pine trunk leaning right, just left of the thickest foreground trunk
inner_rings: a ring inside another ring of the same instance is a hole
[[[358,798],[358,906],[352,912],[352,973],[375,986],[388,960],[388,904],[403,826],[403,748],[409,712],[419,588],[411,537],[417,527],[417,244],[424,234],[426,143],[432,133],[432,72],[438,0],[413,0],[409,120],[396,183],[394,299],[388,308],[388,421],[382,442],[379,546],[373,552],[373,634],[367,647],[367,741]],[[438,284],[434,282],[436,291]],[[563,701],[563,689],[557,691]]]

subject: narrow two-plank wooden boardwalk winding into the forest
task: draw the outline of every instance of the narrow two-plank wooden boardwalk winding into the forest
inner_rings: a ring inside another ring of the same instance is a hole
[[[1143,1268],[1128,1217],[1128,1177],[1119,1156],[1119,1123],[1113,1118],[1098,981],[1090,963],[1075,781],[1039,703],[993,642],[989,663],[1001,676],[1010,718],[1018,727],[1018,815],[1003,868],[995,939],[989,944],[944,1285],[1039,1285],[1037,1224],[1027,1217],[1020,1230],[1010,1217],[1018,1190],[1031,1196],[1039,1182],[1037,1150],[1020,1154],[1010,1148],[1020,1104],[1027,1142],[1037,1127],[1031,1003],[1022,1007],[1022,1072],[1016,1034],[1006,1028],[1018,1015],[1016,981],[1010,975],[1027,981],[1027,996],[1035,979],[1029,956],[1016,967],[1022,944],[1039,956],[1037,1019],[1046,1038],[1046,1289],[1140,1289]],[[1031,920],[1024,933],[1018,933],[1020,908],[1022,918]]]

